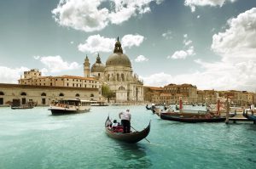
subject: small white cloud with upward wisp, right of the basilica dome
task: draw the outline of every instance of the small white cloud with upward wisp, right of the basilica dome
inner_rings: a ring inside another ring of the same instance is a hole
[[[167,56],[167,59],[186,59],[188,56],[195,55],[194,47],[191,45],[192,41],[189,40],[187,34],[184,34],[183,37],[184,37],[184,40],[183,40],[184,49],[174,52],[172,56],[171,55]]]

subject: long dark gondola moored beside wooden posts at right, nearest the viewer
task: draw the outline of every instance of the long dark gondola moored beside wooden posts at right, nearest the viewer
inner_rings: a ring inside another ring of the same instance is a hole
[[[225,121],[225,117],[201,117],[199,118],[198,116],[193,117],[193,116],[188,116],[188,117],[181,117],[177,115],[165,115],[165,113],[160,113],[160,118],[163,120],[168,120],[168,121],[180,121],[180,122],[190,122],[190,123],[195,123],[195,122],[221,122]]]

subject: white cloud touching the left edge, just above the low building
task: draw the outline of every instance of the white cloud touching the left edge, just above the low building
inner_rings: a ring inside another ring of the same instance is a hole
[[[1,83],[18,83],[20,76],[23,75],[24,71],[29,70],[26,67],[20,68],[9,68],[0,66],[0,82]]]

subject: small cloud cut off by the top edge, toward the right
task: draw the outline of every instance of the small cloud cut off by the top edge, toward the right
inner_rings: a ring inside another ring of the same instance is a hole
[[[219,6],[222,7],[224,3],[234,3],[236,0],[185,0],[184,5],[189,6],[192,12],[195,12],[196,6]]]

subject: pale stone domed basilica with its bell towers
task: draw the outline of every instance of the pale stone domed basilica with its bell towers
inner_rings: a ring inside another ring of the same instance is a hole
[[[115,42],[113,54],[110,54],[104,65],[98,54],[96,63],[90,68],[88,57],[84,59],[84,77],[94,76],[102,83],[107,83],[116,95],[117,103],[142,102],[143,82],[133,73],[131,61],[123,54],[119,38]]]

